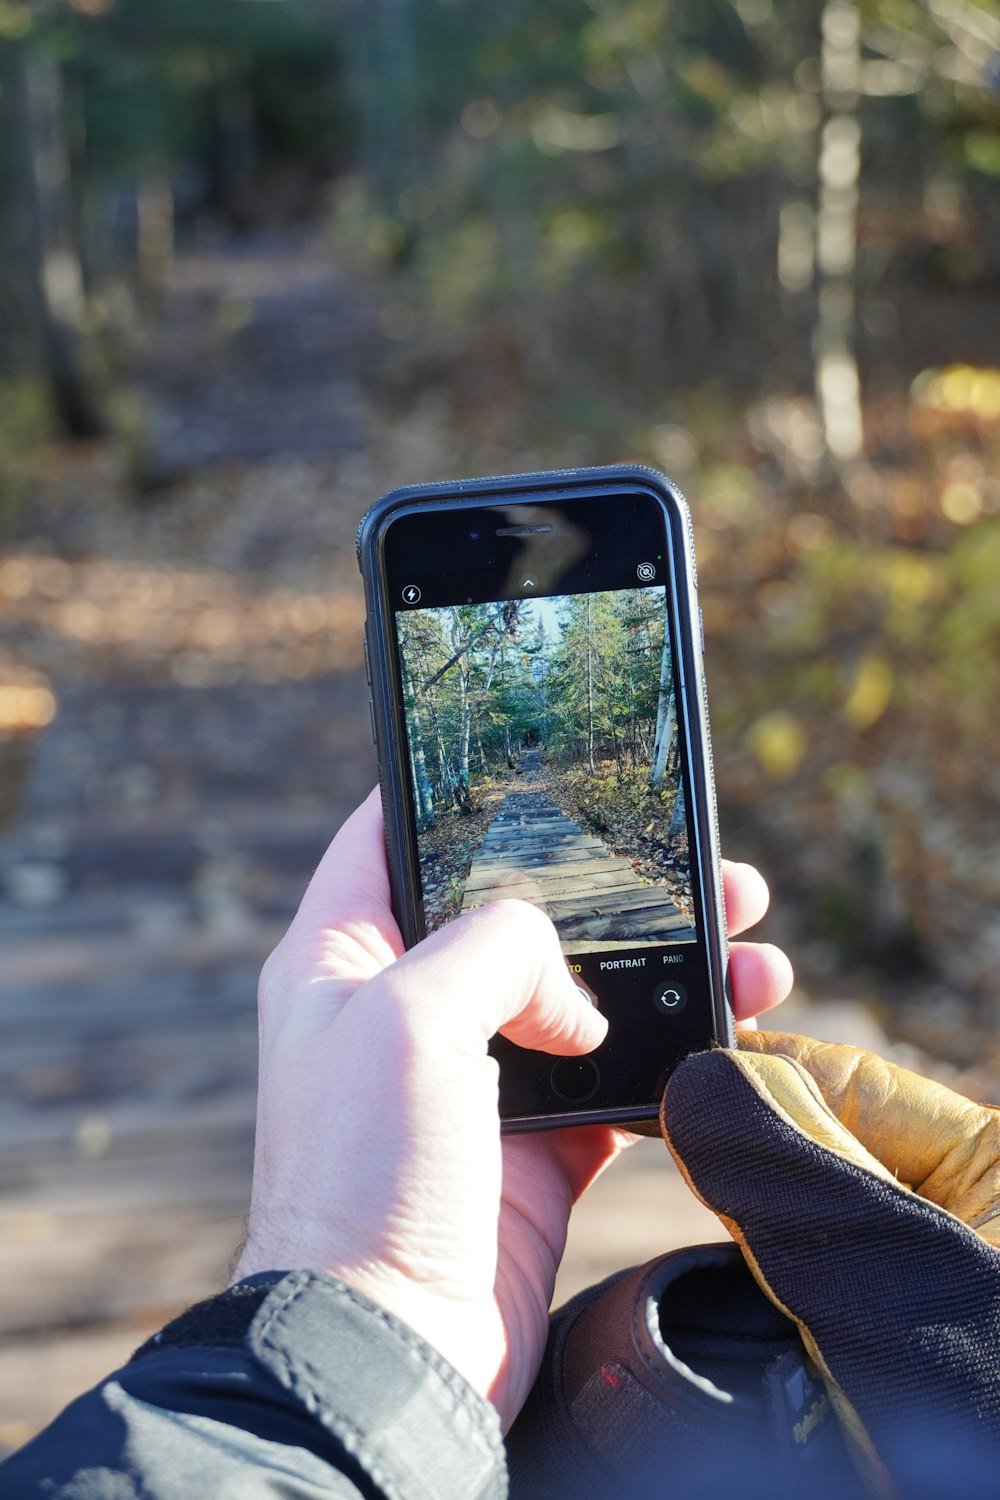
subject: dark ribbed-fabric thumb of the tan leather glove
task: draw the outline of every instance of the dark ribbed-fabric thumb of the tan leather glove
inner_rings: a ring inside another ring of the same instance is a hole
[[[661,1124],[694,1192],[798,1323],[876,1491],[939,1492],[924,1488],[931,1456],[996,1462],[1000,1252],[898,1182],[790,1058],[685,1059]]]

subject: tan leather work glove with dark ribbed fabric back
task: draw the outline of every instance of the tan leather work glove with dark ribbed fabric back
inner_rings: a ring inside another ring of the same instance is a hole
[[[681,1064],[661,1124],[798,1324],[870,1492],[996,1500],[1000,1112],[856,1047],[745,1032]]]

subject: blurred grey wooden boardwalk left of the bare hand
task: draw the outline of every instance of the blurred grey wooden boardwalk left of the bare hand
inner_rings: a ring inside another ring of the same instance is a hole
[[[0,1456],[226,1284],[261,963],[373,771],[361,668],[97,681],[57,682],[0,838]]]

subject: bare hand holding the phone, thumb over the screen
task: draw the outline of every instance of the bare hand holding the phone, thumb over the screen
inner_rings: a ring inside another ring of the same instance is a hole
[[[730,930],[768,903],[726,870]],[[738,1018],[784,998],[768,945],[732,945]],[[603,1017],[555,928],[493,902],[403,954],[378,795],[327,850],[264,966],[247,1240],[234,1280],[330,1270],[414,1328],[508,1425],[535,1377],[573,1202],[631,1137],[603,1126],[501,1143],[489,1038],[589,1052]]]

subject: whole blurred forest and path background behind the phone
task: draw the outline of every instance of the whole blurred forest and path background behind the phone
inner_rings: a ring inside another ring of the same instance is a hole
[[[78,1220],[31,1302],[79,1160],[166,1202],[166,1131],[175,1226],[183,1113],[237,1215],[396,483],[681,483],[724,849],[805,993],[997,1095],[999,124],[997,0],[0,0],[9,1330],[148,1281],[165,1220],[103,1281]]]

